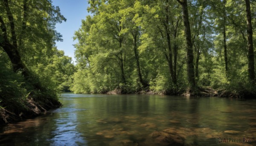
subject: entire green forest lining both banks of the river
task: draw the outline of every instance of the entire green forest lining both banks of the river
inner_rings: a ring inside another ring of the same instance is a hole
[[[59,107],[68,91],[256,97],[256,1],[88,3],[74,64],[55,46],[55,24],[66,21],[58,6],[0,0],[2,117]]]

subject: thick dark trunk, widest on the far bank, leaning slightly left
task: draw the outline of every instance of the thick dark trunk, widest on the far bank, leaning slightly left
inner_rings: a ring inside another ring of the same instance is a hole
[[[189,87],[193,88],[196,86],[196,84],[195,84],[195,74],[194,74],[193,44],[191,40],[187,0],[183,0],[183,2],[181,2],[180,0],[177,0],[177,1],[181,4],[182,11],[183,11],[183,23],[185,26],[186,46],[187,46],[186,48],[187,76],[188,76]]]

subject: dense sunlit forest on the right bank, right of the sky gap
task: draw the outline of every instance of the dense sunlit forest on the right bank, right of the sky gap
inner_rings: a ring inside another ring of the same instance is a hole
[[[71,91],[255,97],[255,1],[89,3]]]

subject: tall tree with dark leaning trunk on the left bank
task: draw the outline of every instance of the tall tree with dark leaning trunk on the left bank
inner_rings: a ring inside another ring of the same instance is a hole
[[[43,42],[44,46],[40,47],[49,45],[50,48],[54,40],[61,40],[60,35],[54,30],[54,25],[66,19],[60,14],[58,7],[52,6],[51,1],[48,0],[23,0],[22,2],[3,0],[0,3],[2,10],[0,28],[3,33],[0,37],[0,47],[9,56],[14,72],[21,71],[23,76],[32,82],[33,75],[22,58],[28,55],[26,52],[29,52],[29,46],[32,44],[36,45],[38,42]],[[2,8],[5,9],[6,14]],[[32,21],[34,18],[38,21]],[[40,41],[42,38],[47,39]],[[34,39],[37,41],[32,41]],[[35,88],[41,88],[40,83],[33,84]]]

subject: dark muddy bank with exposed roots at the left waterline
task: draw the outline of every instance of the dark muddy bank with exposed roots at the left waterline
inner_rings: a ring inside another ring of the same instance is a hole
[[[18,122],[39,115],[44,115],[49,109],[56,109],[62,104],[52,98],[44,98],[42,100],[34,100],[28,98],[24,103],[23,110],[10,109],[8,107],[0,109],[0,125]]]

